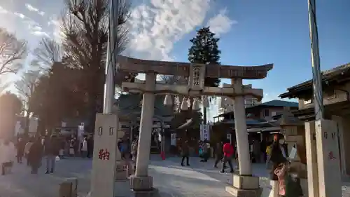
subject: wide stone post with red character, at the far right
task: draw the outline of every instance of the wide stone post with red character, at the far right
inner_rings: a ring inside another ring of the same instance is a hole
[[[342,196],[339,166],[337,124],[335,121],[319,120],[315,123],[318,184],[320,197]]]

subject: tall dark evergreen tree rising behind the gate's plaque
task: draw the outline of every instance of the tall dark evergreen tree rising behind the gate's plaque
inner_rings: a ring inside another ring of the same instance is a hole
[[[195,38],[190,40],[193,45],[188,50],[188,60],[191,63],[220,64],[219,40],[209,27],[202,27],[197,31]],[[220,81],[218,78],[207,78],[204,80],[204,84],[205,86],[218,87]]]

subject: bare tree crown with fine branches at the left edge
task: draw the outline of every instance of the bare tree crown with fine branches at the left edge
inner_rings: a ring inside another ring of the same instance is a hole
[[[17,73],[22,68],[18,60],[27,56],[27,42],[0,28],[0,75]]]

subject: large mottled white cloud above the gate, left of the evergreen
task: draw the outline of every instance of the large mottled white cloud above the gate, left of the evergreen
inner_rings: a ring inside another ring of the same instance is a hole
[[[134,8],[130,18],[130,54],[151,60],[173,60],[174,43],[202,25],[210,0],[151,0]]]

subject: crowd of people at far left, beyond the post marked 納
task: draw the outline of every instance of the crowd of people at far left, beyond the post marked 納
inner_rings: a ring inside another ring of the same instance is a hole
[[[32,174],[38,173],[43,161],[45,162],[45,174],[50,174],[55,171],[56,161],[66,156],[90,157],[92,150],[92,137],[85,137],[82,142],[76,140],[75,137],[66,138],[60,135],[2,140],[0,142],[1,175],[10,173],[15,161],[22,164],[23,158],[27,160],[27,166],[31,168]]]

